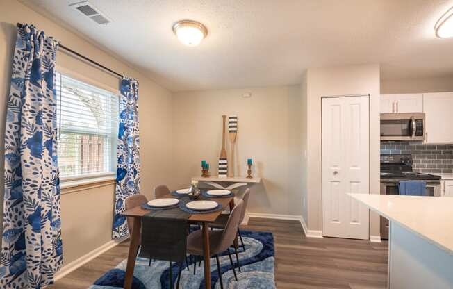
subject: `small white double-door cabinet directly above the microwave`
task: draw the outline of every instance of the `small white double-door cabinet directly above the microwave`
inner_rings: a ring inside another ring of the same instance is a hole
[[[382,94],[381,113],[422,113],[423,94]]]

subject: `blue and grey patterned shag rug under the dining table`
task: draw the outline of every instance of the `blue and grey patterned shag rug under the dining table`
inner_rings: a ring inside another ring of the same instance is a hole
[[[274,237],[270,232],[241,231],[246,250],[238,249],[240,269],[236,267],[238,281],[234,279],[233,270],[227,252],[224,252],[220,259],[220,270],[224,288],[260,288],[272,289],[274,281]],[[236,265],[236,256],[233,249],[230,249],[233,256],[233,263]],[[204,264],[198,267],[197,273],[193,274],[193,258],[189,258],[189,271],[186,262],[183,263],[181,281],[179,288],[183,289],[204,289]],[[115,269],[106,272],[101,278],[90,286],[90,289],[117,289],[122,288],[126,274],[126,260],[122,261]],[[169,263],[166,261],[153,261],[149,266],[149,259],[137,258],[135,262],[133,289],[157,289],[169,288]],[[176,278],[179,272],[179,265],[172,265],[173,284],[176,288]],[[220,288],[219,274],[215,258],[211,258],[211,284],[212,288]]]

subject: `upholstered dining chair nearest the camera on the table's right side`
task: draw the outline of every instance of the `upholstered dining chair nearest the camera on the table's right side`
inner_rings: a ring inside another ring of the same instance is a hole
[[[239,220],[242,213],[242,207],[244,206],[244,201],[240,200],[229,215],[227,224],[224,229],[209,231],[209,247],[211,248],[211,256],[215,256],[217,261],[217,272],[219,274],[220,288],[223,289],[222,281],[222,271],[220,270],[220,261],[219,254],[222,254],[224,251],[227,251],[231,267],[233,268],[234,279],[238,281],[238,276],[236,276],[236,270],[234,269],[233,258],[231,258],[231,253],[229,247],[233,244],[234,239],[236,238],[236,232],[238,231]],[[187,237],[187,252],[193,256],[203,256],[203,233],[201,230],[194,231],[190,233]],[[194,263],[194,266],[197,267],[197,263]],[[195,268],[194,267],[194,268]]]

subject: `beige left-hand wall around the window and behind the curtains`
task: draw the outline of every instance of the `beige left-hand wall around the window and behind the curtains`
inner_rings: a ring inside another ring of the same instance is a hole
[[[158,183],[172,185],[172,95],[144,74],[131,68],[118,56],[95,47],[79,35],[58,26],[50,19],[13,0],[0,1],[0,135],[4,135],[6,99],[11,76],[11,61],[16,39],[16,23],[34,24],[67,47],[82,53],[111,69],[135,77],[140,82],[140,144],[142,161],[142,193],[151,197],[151,188]],[[58,67],[83,74],[88,79],[118,89],[118,79],[81,60],[58,52]],[[0,138],[3,148],[3,138]],[[3,176],[3,152],[0,154]],[[3,188],[3,178],[0,178]],[[3,189],[1,189],[3,190]],[[63,248],[65,264],[104,245],[110,240],[113,215],[114,185],[62,195]],[[1,192],[3,198],[3,192]],[[1,206],[3,199],[0,199]],[[0,208],[3,211],[3,208]],[[3,220],[0,220],[3,223]]]

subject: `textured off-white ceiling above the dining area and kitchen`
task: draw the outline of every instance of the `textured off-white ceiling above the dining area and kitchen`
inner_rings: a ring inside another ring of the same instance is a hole
[[[300,83],[308,67],[380,63],[382,79],[453,75],[453,38],[434,24],[453,0],[91,0],[101,26],[69,3],[28,0],[149,72],[171,91]],[[193,19],[208,37],[186,47],[172,24]]]

